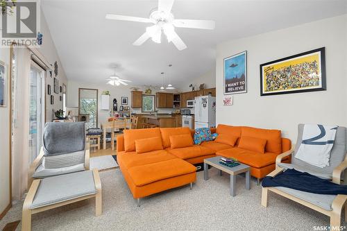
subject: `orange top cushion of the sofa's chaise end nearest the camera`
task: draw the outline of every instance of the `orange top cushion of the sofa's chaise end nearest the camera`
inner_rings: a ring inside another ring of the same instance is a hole
[[[195,172],[196,167],[194,165],[180,159],[166,160],[128,169],[128,173],[136,186],[148,185],[159,180]]]

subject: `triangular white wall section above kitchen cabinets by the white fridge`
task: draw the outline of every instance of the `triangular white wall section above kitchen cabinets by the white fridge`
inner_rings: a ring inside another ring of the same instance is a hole
[[[216,87],[216,69],[213,68],[202,76],[197,76],[196,78],[193,78],[186,83],[181,83],[180,85],[178,85],[178,87],[180,88],[181,92],[190,92],[192,91],[192,88],[189,87],[191,83],[195,86],[195,90],[198,90],[198,87],[201,85],[201,83],[205,83],[205,88]]]

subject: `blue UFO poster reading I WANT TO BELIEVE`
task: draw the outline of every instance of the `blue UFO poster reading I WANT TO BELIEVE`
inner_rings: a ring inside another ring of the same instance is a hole
[[[224,59],[224,94],[247,92],[247,51]]]

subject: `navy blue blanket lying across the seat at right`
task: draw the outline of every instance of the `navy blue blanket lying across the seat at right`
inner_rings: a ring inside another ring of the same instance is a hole
[[[347,195],[347,185],[337,185],[330,180],[324,180],[295,169],[287,169],[274,178],[266,176],[262,181],[262,187],[287,187],[312,194]]]

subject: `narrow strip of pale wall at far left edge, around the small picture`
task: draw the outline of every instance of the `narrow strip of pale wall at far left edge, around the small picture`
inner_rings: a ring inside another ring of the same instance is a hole
[[[10,204],[10,49],[0,49],[7,66],[6,108],[0,108],[0,214]]]

